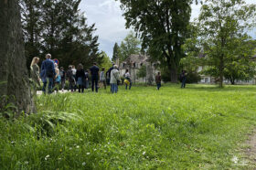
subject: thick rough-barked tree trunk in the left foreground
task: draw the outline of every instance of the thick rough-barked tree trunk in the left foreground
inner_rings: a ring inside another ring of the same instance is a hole
[[[18,0],[0,0],[0,56],[0,96],[14,97],[9,102],[16,105],[16,115],[19,112],[35,112],[27,74]]]

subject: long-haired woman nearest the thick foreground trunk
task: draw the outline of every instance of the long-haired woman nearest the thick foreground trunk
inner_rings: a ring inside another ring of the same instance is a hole
[[[30,69],[31,69],[31,78],[32,80],[40,86],[40,69],[39,66],[37,65],[39,62],[39,58],[35,57],[32,59]]]

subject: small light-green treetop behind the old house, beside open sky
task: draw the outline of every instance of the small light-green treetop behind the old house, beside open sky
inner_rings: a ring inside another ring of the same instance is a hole
[[[139,54],[141,51],[141,41],[135,37],[133,31],[131,31],[121,42],[120,47],[117,49],[119,53],[120,61],[129,58],[133,54]]]

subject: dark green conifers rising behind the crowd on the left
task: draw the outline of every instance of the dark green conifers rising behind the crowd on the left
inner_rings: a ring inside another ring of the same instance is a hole
[[[31,58],[44,59],[46,53],[58,58],[60,66],[93,62],[101,64],[95,25],[88,26],[80,13],[80,0],[22,0],[22,21],[26,44],[27,65]]]

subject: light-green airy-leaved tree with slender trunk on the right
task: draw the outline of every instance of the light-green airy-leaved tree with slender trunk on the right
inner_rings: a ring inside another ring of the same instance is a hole
[[[218,78],[219,87],[225,75],[233,83],[235,77],[240,79],[254,69],[247,32],[255,26],[255,12],[256,5],[246,5],[244,0],[206,0],[201,7],[198,27],[207,55],[206,72]]]

